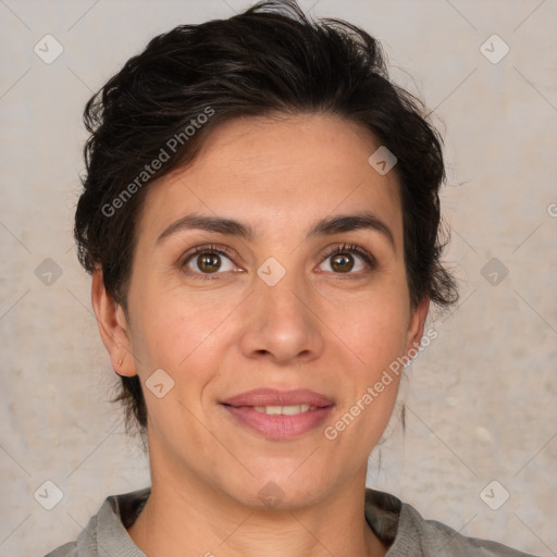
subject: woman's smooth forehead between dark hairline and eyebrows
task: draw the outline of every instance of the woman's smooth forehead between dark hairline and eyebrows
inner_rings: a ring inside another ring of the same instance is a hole
[[[363,126],[332,115],[231,120],[206,138],[190,165],[149,186],[145,223],[156,234],[197,212],[243,220],[264,234],[367,210],[397,236],[396,174],[381,175],[368,162],[379,147]]]

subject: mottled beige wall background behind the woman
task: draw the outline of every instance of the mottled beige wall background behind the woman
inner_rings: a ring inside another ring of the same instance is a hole
[[[381,39],[393,76],[436,110],[446,138],[447,260],[462,301],[431,323],[438,338],[405,383],[406,436],[393,422],[369,485],[467,535],[557,555],[557,1],[301,5]],[[114,375],[73,248],[84,104],[156,34],[244,7],[0,1],[0,556],[41,556],[74,540],[107,495],[149,482],[107,401]],[[64,49],[51,64],[34,52],[46,34]],[[510,48],[496,64],[481,51],[493,34]],[[51,285],[36,275],[47,258],[62,272]],[[485,269],[492,258],[499,267]],[[508,275],[493,285],[500,265]],[[50,511],[34,498],[47,480],[63,492]],[[493,480],[491,502],[510,494],[498,510],[480,496]]]

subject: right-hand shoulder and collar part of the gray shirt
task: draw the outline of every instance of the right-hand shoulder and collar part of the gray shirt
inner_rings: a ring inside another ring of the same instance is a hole
[[[425,520],[411,505],[387,493],[366,490],[366,517],[389,544],[386,557],[534,557]]]

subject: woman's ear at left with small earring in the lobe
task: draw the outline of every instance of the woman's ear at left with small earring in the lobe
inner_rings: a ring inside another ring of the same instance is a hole
[[[107,293],[101,269],[92,274],[91,302],[112,368],[120,375],[137,375],[124,309]]]

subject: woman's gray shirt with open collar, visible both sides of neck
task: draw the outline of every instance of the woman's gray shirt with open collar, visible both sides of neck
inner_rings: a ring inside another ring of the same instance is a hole
[[[141,512],[150,487],[108,497],[75,542],[46,557],[146,557],[126,529]],[[386,557],[533,557],[505,545],[465,537],[388,493],[366,490],[366,519],[389,546]]]

